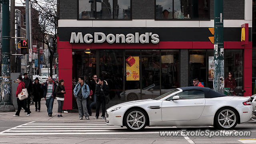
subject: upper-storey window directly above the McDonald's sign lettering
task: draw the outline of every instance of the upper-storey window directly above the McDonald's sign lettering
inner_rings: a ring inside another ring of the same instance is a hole
[[[78,19],[131,19],[131,0],[78,0]]]

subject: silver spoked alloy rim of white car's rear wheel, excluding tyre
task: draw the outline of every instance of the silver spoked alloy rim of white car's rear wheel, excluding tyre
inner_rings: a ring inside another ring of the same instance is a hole
[[[236,123],[236,114],[232,110],[222,110],[218,115],[218,122],[223,128],[231,128]]]

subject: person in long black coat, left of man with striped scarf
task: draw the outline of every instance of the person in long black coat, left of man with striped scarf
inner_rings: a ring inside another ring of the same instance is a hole
[[[43,96],[43,91],[41,89],[41,84],[39,82],[39,79],[36,78],[35,82],[33,83],[33,89],[32,89],[32,94],[34,97],[34,102],[35,102],[35,111],[40,112],[41,110],[41,98]]]

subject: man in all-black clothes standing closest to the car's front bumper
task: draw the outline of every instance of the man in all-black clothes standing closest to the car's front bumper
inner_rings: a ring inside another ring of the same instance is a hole
[[[98,78],[99,82],[96,86],[96,116],[94,119],[98,119],[100,115],[100,105],[102,106],[101,119],[105,118],[106,100],[105,97],[109,94],[109,88],[103,78]]]

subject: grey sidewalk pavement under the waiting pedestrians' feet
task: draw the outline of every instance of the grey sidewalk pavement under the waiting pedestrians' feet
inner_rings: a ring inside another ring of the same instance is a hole
[[[17,111],[17,110],[16,110]],[[52,110],[52,117],[48,116],[47,108],[45,105],[45,100],[41,100],[41,112],[35,112],[35,105],[30,105],[30,111],[32,112],[31,116],[26,116],[26,112],[22,109],[20,111],[19,117],[13,117],[15,112],[0,112],[0,120],[17,120],[17,121],[42,121],[42,122],[53,122],[53,121],[66,121],[66,122],[105,122],[105,119],[93,119],[95,117],[95,112],[92,112],[92,116],[90,116],[90,120],[86,120],[85,117],[83,120],[79,119],[78,110],[77,112],[72,113],[62,113],[63,117],[58,118],[58,102],[55,99],[53,110]],[[100,114],[101,116],[101,114]]]

